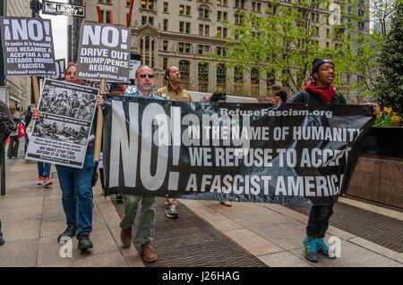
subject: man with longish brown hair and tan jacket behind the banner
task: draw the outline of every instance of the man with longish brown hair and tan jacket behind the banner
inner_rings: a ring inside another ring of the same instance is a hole
[[[162,96],[167,100],[193,102],[192,96],[188,90],[182,88],[179,83],[181,80],[181,72],[176,66],[171,66],[165,71],[164,79],[167,85],[159,88],[155,94]],[[167,198],[165,205],[168,218],[178,218],[176,198]]]

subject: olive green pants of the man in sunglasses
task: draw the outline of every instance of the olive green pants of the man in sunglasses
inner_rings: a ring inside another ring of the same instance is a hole
[[[141,201],[140,220],[135,242],[137,245],[152,244],[155,230],[155,197],[137,195],[122,195],[122,197],[124,198],[124,216],[120,222],[120,228],[127,229],[133,225],[137,207]]]

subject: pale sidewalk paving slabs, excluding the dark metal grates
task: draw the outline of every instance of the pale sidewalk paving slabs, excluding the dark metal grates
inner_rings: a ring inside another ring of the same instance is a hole
[[[51,172],[56,173],[54,165]],[[90,237],[94,247],[81,253],[74,238],[73,257],[61,257],[60,251],[65,245],[56,240],[65,229],[61,190],[57,179],[50,187],[37,186],[37,176],[37,164],[26,163],[24,159],[14,162],[6,173],[6,195],[0,197],[0,219],[5,239],[5,244],[0,247],[0,266],[144,267],[135,247],[121,247],[120,217],[111,199],[102,196],[99,183],[93,188],[93,231]],[[308,262],[302,251],[308,217],[282,205],[243,202],[226,207],[217,201],[179,201],[180,206],[187,206],[227,239],[270,267],[403,267],[402,253],[332,226],[325,241],[331,236],[341,239],[341,256],[335,260],[322,257],[316,264]],[[403,213],[398,211],[347,198],[340,198],[340,202],[403,221]]]

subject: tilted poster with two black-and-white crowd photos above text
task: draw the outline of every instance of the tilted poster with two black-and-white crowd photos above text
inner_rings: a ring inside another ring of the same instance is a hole
[[[96,88],[46,79],[26,159],[82,168],[97,95]]]

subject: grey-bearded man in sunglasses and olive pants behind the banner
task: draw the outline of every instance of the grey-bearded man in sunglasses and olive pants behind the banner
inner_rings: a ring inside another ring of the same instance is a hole
[[[137,68],[134,78],[137,90],[125,96],[143,97],[148,99],[164,100],[154,92],[154,70],[148,65]],[[103,104],[103,99],[97,101]],[[152,247],[155,231],[155,197],[140,195],[122,195],[124,198],[124,216],[120,222],[120,240],[123,247],[132,244],[132,226],[136,217],[137,208],[141,201],[141,214],[137,228],[135,243],[141,245],[141,255],[145,262],[157,261],[157,253]]]

